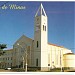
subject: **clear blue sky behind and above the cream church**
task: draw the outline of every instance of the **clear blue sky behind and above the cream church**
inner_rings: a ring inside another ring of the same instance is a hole
[[[0,6],[6,2],[0,2]],[[48,16],[48,41],[71,49],[74,53],[74,2],[8,2],[5,5],[16,4],[25,6],[24,10],[4,10],[0,8],[0,43],[7,44],[8,49],[23,34],[34,38],[35,13],[43,4]]]

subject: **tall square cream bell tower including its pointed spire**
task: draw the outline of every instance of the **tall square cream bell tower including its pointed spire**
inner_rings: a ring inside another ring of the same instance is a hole
[[[47,54],[47,15],[41,4],[35,14],[34,25],[34,67],[42,71],[48,68],[48,54]]]

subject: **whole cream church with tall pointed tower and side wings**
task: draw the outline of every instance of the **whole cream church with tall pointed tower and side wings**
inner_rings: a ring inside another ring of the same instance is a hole
[[[48,42],[48,17],[42,4],[35,14],[34,22],[34,39],[22,35],[14,43],[13,49],[6,51],[5,54],[12,51],[12,60],[5,61],[3,67],[24,68],[27,65],[41,71],[48,71],[49,68],[75,68],[75,55],[71,50]],[[6,58],[5,54],[0,59]]]

